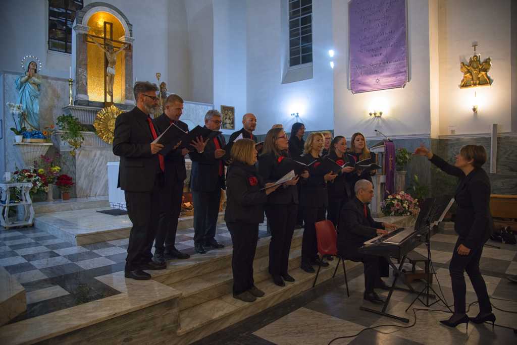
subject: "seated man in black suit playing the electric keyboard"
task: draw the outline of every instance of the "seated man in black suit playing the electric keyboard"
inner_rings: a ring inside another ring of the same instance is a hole
[[[338,255],[343,259],[361,261],[364,264],[363,299],[375,304],[383,304],[384,301],[374,288],[390,289],[381,279],[381,276],[389,276],[389,264],[382,257],[362,254],[358,249],[364,242],[388,233],[388,230],[394,230],[397,226],[373,220],[370,209],[366,205],[373,197],[373,184],[370,181],[357,181],[354,192],[355,198],[349,200],[341,209],[338,223]]]

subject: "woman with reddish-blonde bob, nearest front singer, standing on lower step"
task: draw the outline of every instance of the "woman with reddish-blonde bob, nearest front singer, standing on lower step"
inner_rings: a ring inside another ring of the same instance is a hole
[[[224,220],[233,242],[232,272],[233,296],[244,302],[253,302],[264,296],[253,283],[253,259],[258,240],[258,224],[264,221],[267,195],[278,185],[264,187],[255,163],[257,151],[251,139],[237,140],[232,146],[233,163],[226,176],[226,210]]]

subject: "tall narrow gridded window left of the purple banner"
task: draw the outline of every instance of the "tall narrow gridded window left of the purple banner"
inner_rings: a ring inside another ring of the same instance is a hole
[[[289,2],[289,66],[312,62],[312,0]]]

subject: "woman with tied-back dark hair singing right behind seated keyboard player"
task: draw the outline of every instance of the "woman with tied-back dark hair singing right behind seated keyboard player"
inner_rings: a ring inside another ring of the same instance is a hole
[[[325,158],[340,166],[346,164],[352,159],[351,156],[346,154],[346,138],[344,136],[338,135],[332,139],[330,142],[329,153]],[[354,167],[345,166],[338,172],[338,177],[336,177],[333,182],[329,182],[327,184],[327,219],[334,224],[336,229],[338,227],[341,207],[345,205],[348,198],[353,195],[353,193],[351,193],[350,186],[348,185],[348,180],[351,180],[353,171]]]

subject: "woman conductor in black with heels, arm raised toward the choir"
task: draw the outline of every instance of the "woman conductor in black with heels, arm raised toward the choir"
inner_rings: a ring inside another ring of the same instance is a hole
[[[486,285],[479,272],[479,259],[483,244],[489,239],[493,229],[490,214],[490,180],[481,166],[486,162],[485,149],[480,145],[465,145],[456,155],[456,162],[450,165],[433,154],[423,145],[415,150],[417,155],[427,158],[447,174],[460,178],[454,199],[458,203],[458,212],[454,230],[458,241],[449,265],[454,295],[454,313],[448,320],[440,321],[446,326],[455,327],[460,323],[472,321],[483,323],[495,322]],[[469,318],[465,313],[465,278],[467,272],[479,302],[479,314]]]

